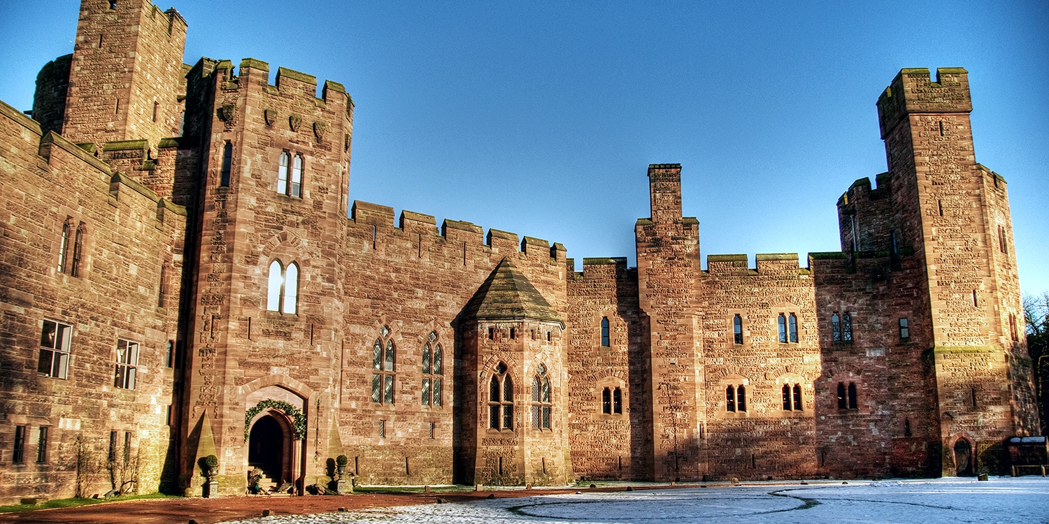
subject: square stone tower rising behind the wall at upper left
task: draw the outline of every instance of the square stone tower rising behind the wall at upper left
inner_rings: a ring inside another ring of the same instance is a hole
[[[154,147],[177,136],[186,28],[177,10],[150,0],[82,0],[62,135]]]

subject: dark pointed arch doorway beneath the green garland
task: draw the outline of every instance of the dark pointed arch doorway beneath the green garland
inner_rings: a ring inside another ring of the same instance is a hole
[[[295,480],[293,441],[292,427],[283,413],[270,411],[255,419],[248,438],[248,467],[262,471],[263,489]]]

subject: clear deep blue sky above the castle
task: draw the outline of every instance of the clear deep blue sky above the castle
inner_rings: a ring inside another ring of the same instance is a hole
[[[652,162],[682,163],[704,260],[840,249],[838,196],[886,169],[878,95],[903,67],[965,67],[1021,284],[1049,290],[1044,0],[170,2],[187,63],[251,57],[346,86],[350,198],[561,242],[578,264],[635,263]],[[0,100],[33,106],[78,6],[0,0]]]

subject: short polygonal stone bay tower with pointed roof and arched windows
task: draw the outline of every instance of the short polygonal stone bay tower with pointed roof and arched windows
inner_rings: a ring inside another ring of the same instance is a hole
[[[572,478],[564,324],[509,258],[458,321],[463,343],[459,482],[564,485]]]

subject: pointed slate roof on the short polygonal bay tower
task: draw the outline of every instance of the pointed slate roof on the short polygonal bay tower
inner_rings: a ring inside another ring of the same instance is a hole
[[[502,259],[495,266],[470,302],[467,302],[463,308],[463,319],[530,319],[564,324],[547,299],[539,294],[509,258]]]

